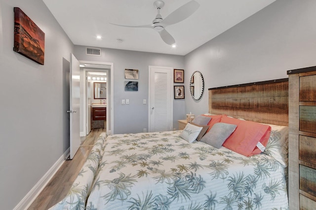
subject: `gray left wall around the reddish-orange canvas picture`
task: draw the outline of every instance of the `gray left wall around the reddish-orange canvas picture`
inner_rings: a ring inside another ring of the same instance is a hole
[[[13,52],[14,6],[45,33],[44,66]],[[0,209],[13,209],[69,147],[73,47],[42,0],[0,0]]]

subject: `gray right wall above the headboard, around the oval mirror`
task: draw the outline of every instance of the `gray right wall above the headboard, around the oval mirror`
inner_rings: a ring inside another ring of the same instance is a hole
[[[186,98],[186,112],[208,111],[208,88],[287,78],[286,70],[316,66],[315,8],[316,0],[276,0],[186,55],[185,80],[199,70],[206,90],[199,102]]]

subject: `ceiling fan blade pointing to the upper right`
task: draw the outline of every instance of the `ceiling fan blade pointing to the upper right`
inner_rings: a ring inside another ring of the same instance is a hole
[[[199,3],[197,3],[197,1],[195,0],[189,1],[188,3],[174,10],[171,14],[169,14],[166,18],[164,18],[161,21],[161,23],[165,25],[172,25],[172,24],[179,23],[185,20],[186,18],[188,18],[195,11],[197,11],[198,7],[199,7]]]

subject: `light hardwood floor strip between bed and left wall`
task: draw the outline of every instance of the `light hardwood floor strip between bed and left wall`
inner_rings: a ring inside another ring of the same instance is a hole
[[[93,144],[102,132],[106,132],[106,128],[94,128],[86,136],[74,158],[63,163],[28,210],[47,210],[67,195]]]

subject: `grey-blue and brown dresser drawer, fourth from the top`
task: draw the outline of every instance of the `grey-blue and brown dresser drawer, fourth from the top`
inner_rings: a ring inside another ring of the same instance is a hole
[[[316,169],[300,165],[300,189],[316,196]]]

